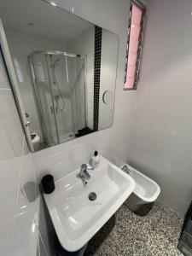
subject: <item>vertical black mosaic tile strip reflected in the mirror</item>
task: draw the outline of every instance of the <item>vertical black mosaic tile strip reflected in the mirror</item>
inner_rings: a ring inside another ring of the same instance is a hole
[[[93,129],[99,125],[99,92],[102,57],[102,27],[95,26]]]

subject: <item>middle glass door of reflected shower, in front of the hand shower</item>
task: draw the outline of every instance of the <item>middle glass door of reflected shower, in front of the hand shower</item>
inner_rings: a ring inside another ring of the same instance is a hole
[[[72,97],[67,70],[67,56],[49,55],[49,63],[55,122],[57,125],[58,140],[59,143],[62,143],[74,137]]]

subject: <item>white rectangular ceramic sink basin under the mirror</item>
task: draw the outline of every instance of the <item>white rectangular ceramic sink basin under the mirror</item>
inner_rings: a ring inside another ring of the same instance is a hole
[[[69,252],[83,247],[135,188],[129,175],[103,157],[100,166],[89,171],[85,186],[78,173],[79,169],[62,177],[55,182],[53,193],[44,194],[61,246]],[[89,200],[90,192],[96,193],[95,201]]]

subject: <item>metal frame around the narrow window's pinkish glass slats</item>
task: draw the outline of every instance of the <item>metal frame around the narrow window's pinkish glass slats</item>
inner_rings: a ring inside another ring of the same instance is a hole
[[[134,77],[134,84],[132,88],[125,88],[126,82],[126,74],[127,74],[127,66],[128,66],[128,57],[129,57],[129,45],[130,45],[130,32],[131,32],[131,18],[132,18],[132,6],[137,5],[139,9],[142,9],[142,19],[141,19],[141,30],[138,38],[138,49],[137,49],[137,61],[136,61],[136,72]],[[144,26],[146,20],[146,7],[143,3],[137,0],[131,0],[130,3],[130,15],[129,15],[129,26],[128,26],[128,36],[127,36],[127,49],[126,49],[126,61],[125,61],[125,79],[124,79],[124,90],[137,90],[137,83],[139,81],[139,75],[141,71],[141,58],[142,58],[142,50],[143,50],[143,35],[144,35]]]

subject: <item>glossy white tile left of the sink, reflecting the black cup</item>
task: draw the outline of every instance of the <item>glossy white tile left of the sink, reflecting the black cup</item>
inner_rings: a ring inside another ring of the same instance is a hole
[[[11,255],[36,255],[38,251],[38,226],[40,197],[32,155],[26,154],[26,138],[23,137],[20,156],[15,218],[12,233]]]

